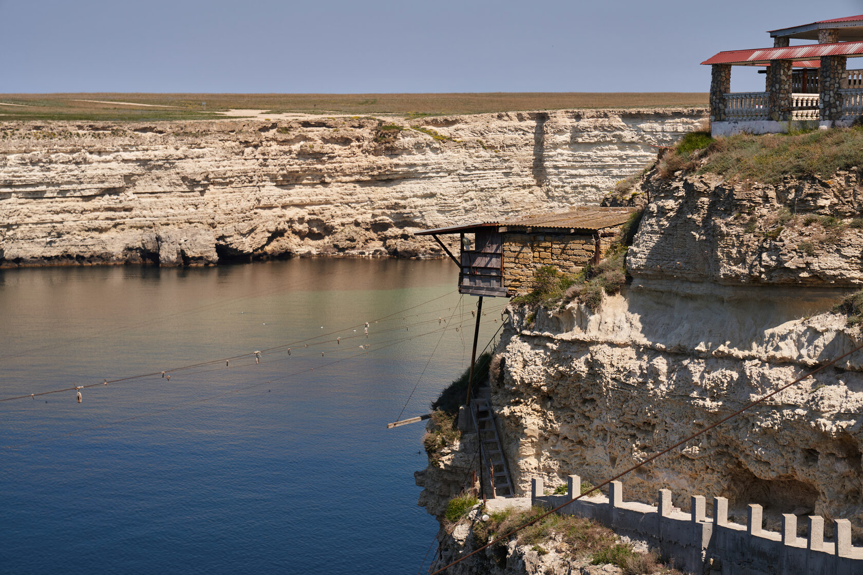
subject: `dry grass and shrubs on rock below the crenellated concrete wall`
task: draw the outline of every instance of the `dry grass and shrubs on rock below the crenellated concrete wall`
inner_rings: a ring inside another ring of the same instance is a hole
[[[473,524],[474,537],[478,545],[485,545],[505,535],[527,522],[545,515],[546,509],[532,507],[526,511],[514,512],[505,509],[492,513],[488,521]],[[612,563],[620,566],[623,572],[635,573],[673,573],[658,563],[657,558],[648,553],[639,553],[630,545],[617,542],[611,529],[597,525],[588,519],[575,516],[551,514],[514,534],[519,545],[531,546],[540,555],[554,549],[570,560],[590,559],[592,563]],[[506,543],[501,541],[492,547],[498,553],[506,553]]]

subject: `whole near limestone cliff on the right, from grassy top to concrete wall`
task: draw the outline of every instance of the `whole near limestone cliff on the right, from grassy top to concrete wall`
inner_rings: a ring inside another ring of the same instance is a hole
[[[863,283],[856,172],[654,176],[622,294],[596,312],[511,309],[492,401],[522,494],[532,477],[598,484],[863,343],[829,313]],[[860,541],[861,413],[858,352],[630,473],[626,497],[728,497],[739,522],[760,503],[774,530],[781,513],[847,518]]]

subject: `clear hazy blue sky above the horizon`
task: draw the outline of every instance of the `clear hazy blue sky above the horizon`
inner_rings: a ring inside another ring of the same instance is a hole
[[[863,0],[0,0],[0,93],[704,92],[714,53],[858,14]],[[735,67],[732,90],[764,76]]]

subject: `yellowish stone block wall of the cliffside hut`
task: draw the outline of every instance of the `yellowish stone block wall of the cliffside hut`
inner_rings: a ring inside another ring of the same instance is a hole
[[[608,251],[620,228],[602,230],[600,257]],[[596,241],[592,234],[503,234],[503,284],[510,295],[536,287],[533,274],[542,266],[560,272],[579,272],[594,259]]]

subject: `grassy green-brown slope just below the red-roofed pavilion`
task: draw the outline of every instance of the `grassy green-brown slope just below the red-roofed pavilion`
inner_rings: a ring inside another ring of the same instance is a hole
[[[696,135],[697,134],[697,135]],[[729,181],[778,184],[784,178],[829,178],[863,166],[863,127],[803,130],[791,134],[738,134],[709,139],[686,134],[659,161],[658,177],[679,171],[715,173]]]

